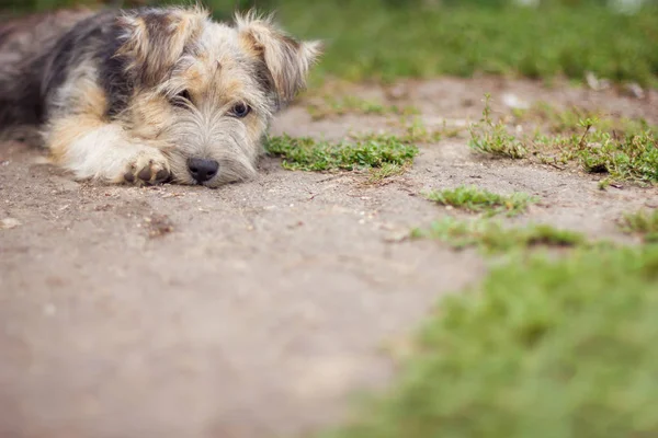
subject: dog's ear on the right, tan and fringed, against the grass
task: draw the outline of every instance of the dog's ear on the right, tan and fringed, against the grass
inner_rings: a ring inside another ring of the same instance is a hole
[[[253,11],[236,15],[240,44],[258,57],[273,82],[281,101],[288,102],[306,87],[309,67],[321,51],[319,42],[299,42],[277,28],[272,16],[261,18]]]

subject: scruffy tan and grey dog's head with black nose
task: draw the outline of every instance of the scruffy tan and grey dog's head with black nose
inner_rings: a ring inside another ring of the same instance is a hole
[[[182,184],[253,175],[272,116],[305,87],[319,51],[253,13],[227,25],[198,9],[143,10],[120,25],[116,56],[135,90],[122,117],[170,157]]]

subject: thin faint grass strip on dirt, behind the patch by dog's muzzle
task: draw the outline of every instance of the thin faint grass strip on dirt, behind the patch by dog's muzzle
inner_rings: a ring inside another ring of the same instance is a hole
[[[358,96],[325,96],[322,103],[311,103],[307,106],[308,114],[314,120],[345,114],[363,115],[412,115],[418,114],[413,106],[386,105],[377,101],[368,101]]]

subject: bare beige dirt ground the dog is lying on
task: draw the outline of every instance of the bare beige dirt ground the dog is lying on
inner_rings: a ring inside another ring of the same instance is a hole
[[[502,79],[359,90],[418,106],[429,127],[476,119],[485,92],[658,123],[656,92]],[[273,132],[387,126],[311,122],[297,105]],[[658,207],[656,189],[602,192],[591,175],[485,160],[466,141],[423,146],[376,187],[264,159],[257,180],[216,191],[77,183],[39,151],[0,145],[0,437],[307,436],[339,422],[354,391],[386,384],[386,345],[486,273],[475,252],[401,239],[449,212],[423,189],[525,192],[542,201],[518,221],[613,239],[623,211]]]

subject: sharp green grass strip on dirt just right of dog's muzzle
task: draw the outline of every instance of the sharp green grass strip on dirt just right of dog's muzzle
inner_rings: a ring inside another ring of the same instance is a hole
[[[418,154],[418,148],[394,136],[355,142],[270,137],[265,141],[265,150],[273,157],[281,157],[285,169],[316,172],[383,168],[387,164],[407,166]]]

